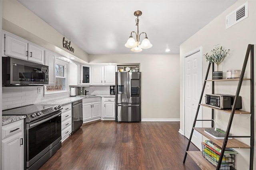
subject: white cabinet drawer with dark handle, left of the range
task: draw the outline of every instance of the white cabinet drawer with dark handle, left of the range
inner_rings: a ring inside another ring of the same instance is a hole
[[[23,130],[24,120],[19,120],[7,125],[2,126],[2,139],[14,135]]]

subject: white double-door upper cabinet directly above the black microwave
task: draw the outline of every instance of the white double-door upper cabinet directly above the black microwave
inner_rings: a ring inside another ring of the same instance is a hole
[[[44,49],[14,35],[4,35],[4,55],[44,64]]]

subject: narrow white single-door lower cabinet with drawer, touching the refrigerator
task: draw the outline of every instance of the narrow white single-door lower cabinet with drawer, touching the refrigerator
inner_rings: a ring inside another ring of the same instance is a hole
[[[116,118],[115,98],[102,98],[102,119],[114,120]]]

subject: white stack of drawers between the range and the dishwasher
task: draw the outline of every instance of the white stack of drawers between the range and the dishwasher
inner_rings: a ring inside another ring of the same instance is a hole
[[[67,104],[62,107],[61,142],[65,141],[72,132],[72,104]]]

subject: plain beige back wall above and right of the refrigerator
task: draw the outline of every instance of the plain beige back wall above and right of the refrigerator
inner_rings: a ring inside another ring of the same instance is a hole
[[[179,55],[89,55],[89,63],[140,63],[142,120],[179,120]]]

